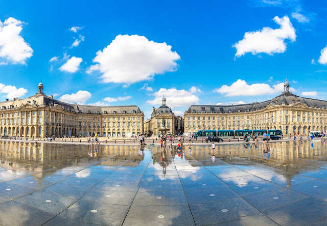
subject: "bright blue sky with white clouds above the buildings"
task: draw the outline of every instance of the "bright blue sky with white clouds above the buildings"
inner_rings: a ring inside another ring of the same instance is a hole
[[[0,100],[249,103],[327,99],[324,1],[0,1]],[[52,60],[51,60],[52,59]]]

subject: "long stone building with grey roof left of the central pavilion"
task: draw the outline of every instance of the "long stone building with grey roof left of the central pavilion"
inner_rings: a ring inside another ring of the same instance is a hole
[[[0,134],[22,137],[126,137],[144,132],[144,114],[136,105],[90,106],[58,101],[38,84],[34,96],[0,102]]]

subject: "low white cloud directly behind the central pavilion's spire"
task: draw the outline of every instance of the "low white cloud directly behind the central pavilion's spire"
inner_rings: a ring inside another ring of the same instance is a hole
[[[161,88],[159,91],[150,94],[154,96],[153,100],[146,101],[147,104],[151,105],[161,105],[162,97],[166,98],[166,104],[169,107],[178,106],[190,106],[191,104],[196,104],[199,102],[199,97],[196,94],[202,91],[196,87],[192,87],[189,90],[177,90],[176,88],[165,89]]]

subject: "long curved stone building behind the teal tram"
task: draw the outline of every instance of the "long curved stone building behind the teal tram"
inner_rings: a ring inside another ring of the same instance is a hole
[[[198,130],[279,129],[283,134],[326,132],[327,101],[284,92],[267,101],[240,105],[191,105],[184,113],[184,132]]]

